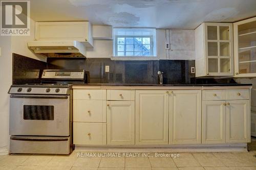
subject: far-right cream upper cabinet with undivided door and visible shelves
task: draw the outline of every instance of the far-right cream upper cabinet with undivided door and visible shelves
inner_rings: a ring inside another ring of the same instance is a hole
[[[256,77],[256,17],[233,23],[234,77]]]

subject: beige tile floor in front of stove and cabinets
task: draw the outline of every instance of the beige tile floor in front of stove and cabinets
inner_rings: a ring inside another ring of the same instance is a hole
[[[179,157],[78,157],[13,154],[0,156],[0,170],[256,170],[256,151],[248,153],[179,153]]]

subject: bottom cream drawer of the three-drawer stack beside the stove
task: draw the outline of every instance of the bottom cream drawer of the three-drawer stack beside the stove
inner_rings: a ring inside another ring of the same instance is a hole
[[[73,123],[74,144],[105,145],[105,123]]]

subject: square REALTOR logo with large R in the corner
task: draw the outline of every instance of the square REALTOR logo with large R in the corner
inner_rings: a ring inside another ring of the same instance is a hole
[[[1,1],[1,35],[30,35],[30,1]]]

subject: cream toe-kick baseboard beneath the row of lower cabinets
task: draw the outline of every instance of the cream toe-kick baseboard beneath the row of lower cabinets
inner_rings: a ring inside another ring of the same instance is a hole
[[[162,146],[76,145],[76,152],[248,152],[247,143],[179,144]]]

